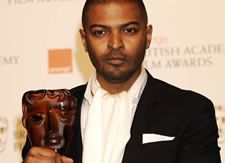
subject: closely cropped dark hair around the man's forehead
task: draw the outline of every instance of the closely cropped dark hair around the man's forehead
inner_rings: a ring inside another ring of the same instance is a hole
[[[138,5],[141,11],[141,15],[143,16],[145,25],[148,24],[148,15],[146,12],[145,5],[142,0],[86,0],[83,11],[82,11],[82,26],[85,29],[87,24],[87,12],[91,5],[99,4],[99,3],[110,3],[110,2],[133,2]]]

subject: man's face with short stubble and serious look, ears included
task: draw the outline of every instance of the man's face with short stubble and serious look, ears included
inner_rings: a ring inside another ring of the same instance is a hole
[[[151,42],[152,27],[146,26],[137,4],[91,5],[86,27],[80,32],[97,77],[122,83],[139,75],[145,50]]]

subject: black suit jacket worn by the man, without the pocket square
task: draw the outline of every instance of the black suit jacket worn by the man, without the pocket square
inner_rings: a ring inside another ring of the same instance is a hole
[[[86,85],[71,89],[78,98],[73,143],[66,155],[82,162],[81,104]],[[172,141],[142,144],[144,133],[175,136]],[[218,129],[212,102],[148,74],[131,127],[123,163],[220,163]],[[23,157],[30,148],[27,141]]]

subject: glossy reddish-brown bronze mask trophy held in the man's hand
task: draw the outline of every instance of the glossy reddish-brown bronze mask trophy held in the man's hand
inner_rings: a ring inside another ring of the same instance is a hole
[[[22,122],[31,145],[65,154],[73,138],[76,105],[66,89],[24,93]]]

